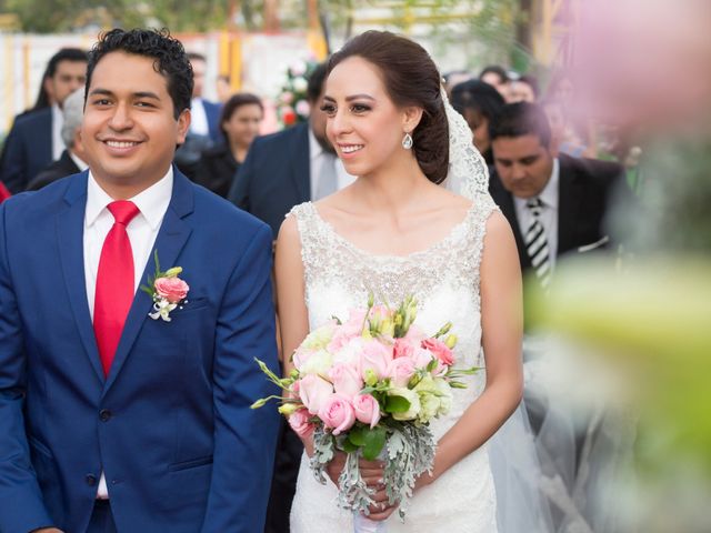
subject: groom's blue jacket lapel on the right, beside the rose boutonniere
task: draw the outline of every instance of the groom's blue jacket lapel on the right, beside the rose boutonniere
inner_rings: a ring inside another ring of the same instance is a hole
[[[192,231],[191,227],[182,220],[183,217],[193,210],[194,198],[190,182],[174,168],[173,180],[173,194],[166,215],[163,217],[158,237],[156,238],[156,243],[153,244],[153,251],[158,251],[158,260],[163,271],[176,266],[178,255]],[[156,272],[153,251],[151,251],[151,255],[146,264],[141,284],[147,282],[149,274],[152,275]],[[104,394],[116,381],[117,375],[129,356],[136,339],[148,318],[148,313],[151,311],[152,304],[151,298],[146,292],[140,289],[136,291],[133,303],[126,319],[121,340],[119,341],[119,346],[113,356],[113,363],[111,363],[111,370],[103,389]]]

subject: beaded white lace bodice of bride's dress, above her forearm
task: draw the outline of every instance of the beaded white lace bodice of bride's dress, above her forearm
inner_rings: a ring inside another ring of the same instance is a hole
[[[449,234],[427,250],[409,255],[374,255],[339,235],[311,202],[291,211],[301,238],[306,300],[310,328],[331,316],[347,319],[353,308],[363,308],[372,292],[378,302],[398,304],[408,294],[419,302],[415,324],[434,333],[445,322],[459,338],[454,354],[458,368],[484,366],[481,354],[479,265],[485,224],[498,209],[490,197],[478,199]],[[457,391],[449,422],[433,425],[440,436],[478,396],[484,372],[471,379],[470,388]]]

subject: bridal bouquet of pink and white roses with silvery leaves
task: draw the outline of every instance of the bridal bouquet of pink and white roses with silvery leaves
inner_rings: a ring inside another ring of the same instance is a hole
[[[274,375],[258,361],[284,396],[258,400],[253,409],[279,399],[279,411],[301,436],[313,436],[311,469],[321,483],[337,450],[347,453],[339,477],[339,504],[368,514],[372,491],[359,470],[359,457],[383,460],[383,484],[390,504],[407,501],[419,475],[430,471],[434,439],[429,423],[445,414],[452,388],[478,369],[454,370],[451,323],[433,335],[413,324],[417,301],[408,296],[397,308],[373,305],[332,319],[309,333],[293,353],[294,370]]]

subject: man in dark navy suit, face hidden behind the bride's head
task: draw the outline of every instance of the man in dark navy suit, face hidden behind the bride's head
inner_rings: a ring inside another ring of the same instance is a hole
[[[274,239],[291,208],[323,198],[354,180],[326,138],[326,113],[321,110],[324,79],[326,64],[319,64],[309,77],[307,88],[311,108],[308,122],[254,139],[228,195],[239,208],[267,222]],[[301,441],[286,419],[282,420],[267,533],[289,531],[302,451]]]

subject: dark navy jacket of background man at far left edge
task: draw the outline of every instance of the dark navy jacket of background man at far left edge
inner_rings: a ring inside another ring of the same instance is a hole
[[[8,133],[0,161],[0,181],[12,193],[22,192],[52,162],[51,108],[18,117]]]

